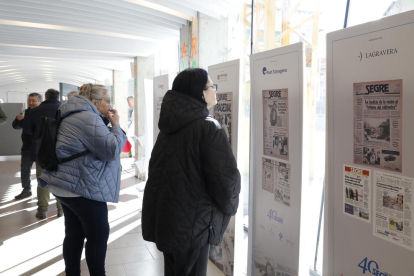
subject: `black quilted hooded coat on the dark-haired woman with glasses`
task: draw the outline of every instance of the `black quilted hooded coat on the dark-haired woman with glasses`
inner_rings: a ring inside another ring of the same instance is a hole
[[[239,205],[240,173],[220,124],[202,102],[168,91],[142,208],[144,239],[160,251],[218,245]]]

